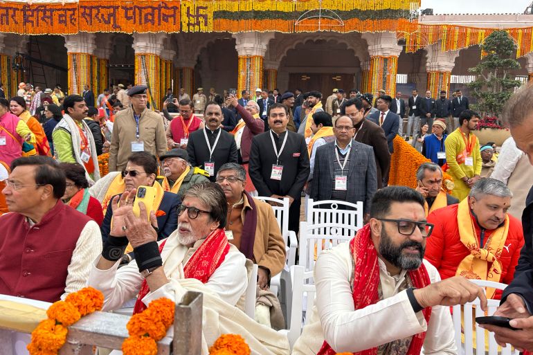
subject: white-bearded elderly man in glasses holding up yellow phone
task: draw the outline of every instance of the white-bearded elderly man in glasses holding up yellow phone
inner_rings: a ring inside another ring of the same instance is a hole
[[[143,203],[139,203],[141,217],[132,211],[135,193],[125,192],[120,203],[118,198],[112,201],[111,233],[89,274],[88,284],[104,294],[103,310],[117,309],[138,295],[134,307],[138,313],[157,298],[180,302],[187,291],[201,291],[204,324],[210,326],[202,338],[202,354],[208,354],[208,347],[226,329],[241,334],[252,354],[288,354],[287,339],[234,307],[246,290],[248,276],[244,255],[224,233],[227,203],[222,188],[206,182],[187,190],[178,210],[178,229],[159,244],[154,212],[149,222]],[[135,260],[118,268],[128,242]]]

